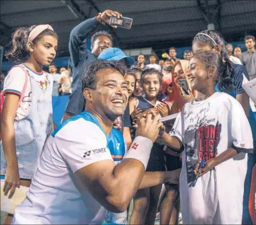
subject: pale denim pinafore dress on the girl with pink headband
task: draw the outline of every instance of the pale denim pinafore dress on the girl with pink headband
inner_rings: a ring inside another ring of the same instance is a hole
[[[23,69],[25,66],[22,66]],[[33,75],[25,67],[26,76],[29,76],[32,98],[31,111],[22,119],[14,120],[15,146],[18,160],[19,178],[32,179],[46,139],[53,132],[53,107],[51,104],[51,86],[47,78],[47,89],[42,90]],[[45,73],[45,72],[43,72]],[[1,175],[6,174],[6,161],[1,142]]]

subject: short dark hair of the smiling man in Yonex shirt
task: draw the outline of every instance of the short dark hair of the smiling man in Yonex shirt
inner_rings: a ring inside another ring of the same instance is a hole
[[[123,76],[126,74],[126,66],[120,61],[96,60],[86,67],[82,75],[82,90],[85,88],[95,90],[97,87],[96,73],[103,69],[117,70]]]

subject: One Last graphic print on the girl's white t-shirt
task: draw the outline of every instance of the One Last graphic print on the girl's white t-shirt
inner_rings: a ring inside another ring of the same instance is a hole
[[[209,107],[201,109],[198,113],[190,111],[185,119],[190,117],[194,120],[185,130],[185,151],[186,151],[186,166],[187,166],[187,184],[189,187],[193,185],[195,174],[194,167],[198,159],[209,160],[217,155],[217,146],[220,140],[221,124],[215,121],[215,118],[206,116]],[[192,115],[194,114],[194,115]],[[192,116],[191,116],[192,115]],[[213,124],[214,123],[214,124]],[[198,124],[199,126],[195,126]]]

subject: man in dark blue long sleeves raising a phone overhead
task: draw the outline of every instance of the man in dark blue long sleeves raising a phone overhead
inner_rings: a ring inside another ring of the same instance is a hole
[[[121,17],[117,11],[105,10],[96,17],[79,23],[70,32],[69,38],[69,67],[73,76],[71,85],[72,94],[65,110],[63,120],[77,115],[85,109],[85,100],[82,93],[81,77],[89,63],[95,61],[98,55],[113,46],[113,38],[107,31],[98,31],[91,37],[91,51],[87,49],[87,39],[99,23],[109,24],[110,17]]]

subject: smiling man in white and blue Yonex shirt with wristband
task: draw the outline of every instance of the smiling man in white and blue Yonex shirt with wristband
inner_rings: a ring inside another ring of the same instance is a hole
[[[101,224],[107,210],[126,210],[162,123],[153,113],[143,116],[129,151],[115,165],[111,155],[125,151],[121,132],[112,128],[128,101],[125,74],[118,61],[94,61],[86,68],[86,109],[47,140],[13,224]]]

